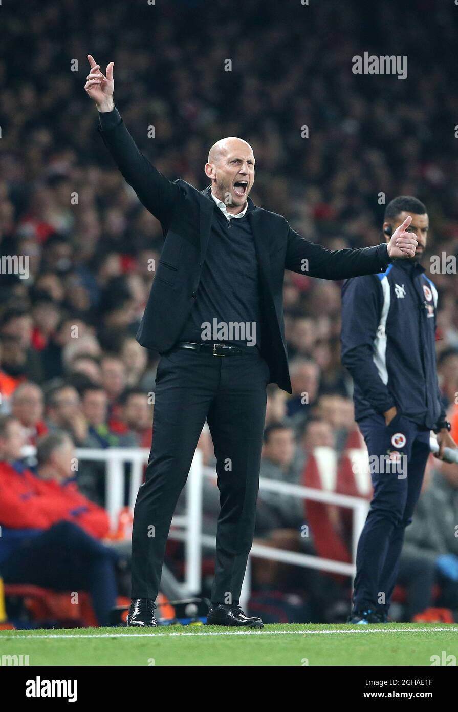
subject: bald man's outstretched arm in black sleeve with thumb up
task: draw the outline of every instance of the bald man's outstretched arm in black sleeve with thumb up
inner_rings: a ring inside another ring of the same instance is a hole
[[[326,250],[290,228],[284,267],[299,274],[335,280],[384,272],[391,260],[415,256],[417,237],[405,231],[411,221],[409,215],[388,244],[358,250]]]

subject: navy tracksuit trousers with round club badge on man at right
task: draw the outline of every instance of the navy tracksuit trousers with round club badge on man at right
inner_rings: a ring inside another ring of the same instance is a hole
[[[356,553],[353,608],[383,613],[398,577],[404,530],[420,496],[430,430],[399,414],[389,426],[381,415],[363,418],[358,426],[368,448],[374,491]]]

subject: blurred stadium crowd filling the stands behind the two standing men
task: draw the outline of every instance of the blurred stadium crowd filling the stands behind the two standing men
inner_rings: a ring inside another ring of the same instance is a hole
[[[167,177],[203,189],[208,147],[240,135],[257,159],[255,203],[329,248],[378,244],[385,203],[415,195],[432,224],[428,270],[432,255],[458,256],[458,98],[449,91],[456,12],[452,5],[431,11],[425,0],[410,10],[385,2],[366,12],[334,0],[313,9],[274,1],[260,9],[245,0],[236,13],[229,0],[113,0],[101,7],[31,0],[26,13],[4,9],[0,255],[28,256],[29,271],[21,278],[2,268],[0,282],[0,499],[11,494],[0,525],[23,533],[0,541],[7,582],[28,582],[33,560],[59,550],[56,537],[65,542],[66,563],[55,565],[68,570],[61,587],[90,591],[98,621],[106,622],[116,597],[116,556],[102,543],[109,523],[100,464],[80,464],[75,473],[69,461],[74,446],[151,443],[159,355],[139,346],[135,334],[161,227],[97,135],[97,114],[83,90],[87,53],[102,70],[115,62],[117,107]],[[351,58],[363,51],[408,56],[408,79],[354,75]],[[430,276],[440,295],[440,385],[457,439],[458,281]],[[301,483],[315,447],[340,454],[358,434],[339,355],[341,286],[287,273],[284,306],[293,393],[269,387],[261,476]],[[30,464],[18,462],[18,444],[38,446],[33,475]],[[199,447],[213,464],[206,429]],[[208,531],[217,503],[209,487]],[[344,542],[339,511],[328,513]],[[457,466],[432,462],[400,572],[406,619],[433,604],[458,616],[458,538],[446,522],[458,522]],[[316,553],[314,532],[301,536],[304,525],[299,500],[260,493],[259,540]],[[41,545],[31,530],[44,538]],[[93,560],[84,571],[78,548]],[[174,549],[172,563],[180,556]],[[53,566],[43,569],[49,577],[43,574],[41,585],[58,587]],[[255,560],[253,573],[258,604],[291,617],[331,620],[340,604],[348,607],[343,577],[265,560]],[[274,592],[281,603],[272,603]]]

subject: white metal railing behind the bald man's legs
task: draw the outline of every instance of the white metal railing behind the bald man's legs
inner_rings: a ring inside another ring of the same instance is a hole
[[[146,448],[78,448],[76,456],[80,461],[105,461],[106,508],[115,527],[119,511],[124,506],[124,464],[130,463],[129,508],[133,511],[137,491],[142,483],[143,469],[147,464],[149,450]],[[185,582],[189,595],[201,590],[201,562],[203,546],[215,546],[215,538],[202,533],[202,506],[204,478],[216,479],[213,468],[203,467],[201,451],[196,450],[188,481],[185,487],[186,507],[183,515],[176,515],[172,520],[169,537],[181,540],[185,544]],[[277,492],[292,497],[350,508],[353,511],[352,563],[334,561],[319,556],[272,548],[254,543],[250,557],[276,560],[296,566],[309,567],[326,572],[355,574],[356,546],[368,513],[366,499],[337,494],[334,492],[294,485],[282,481],[260,478],[260,491]],[[241,604],[247,604],[250,597],[250,560],[243,584]]]

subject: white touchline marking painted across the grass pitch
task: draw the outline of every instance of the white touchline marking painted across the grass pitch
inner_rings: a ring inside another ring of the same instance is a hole
[[[369,628],[366,626],[361,628],[349,628],[348,630],[227,630],[227,631],[208,631],[201,633],[89,633],[82,635],[77,633],[70,635],[64,633],[59,634],[44,634],[44,635],[1,635],[2,640],[18,640],[22,638],[30,639],[47,639],[47,638],[179,638],[183,636],[210,636],[210,635],[338,635],[341,633],[436,633],[436,632],[458,632],[458,628]]]

